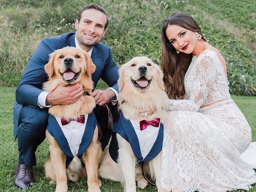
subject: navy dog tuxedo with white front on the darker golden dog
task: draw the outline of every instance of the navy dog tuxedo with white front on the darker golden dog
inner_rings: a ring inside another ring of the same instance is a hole
[[[97,120],[94,112],[85,114],[84,119],[77,121],[67,121],[49,114],[47,131],[55,138],[61,150],[66,154],[66,168],[75,153],[82,162],[82,154],[92,141],[96,125]]]

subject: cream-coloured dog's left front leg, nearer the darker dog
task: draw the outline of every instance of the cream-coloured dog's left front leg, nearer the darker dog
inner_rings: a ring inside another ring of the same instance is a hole
[[[132,152],[130,144],[123,139],[119,134],[117,134],[118,140],[118,164],[121,167],[126,192],[136,192],[136,182],[135,182],[135,165],[136,158]]]

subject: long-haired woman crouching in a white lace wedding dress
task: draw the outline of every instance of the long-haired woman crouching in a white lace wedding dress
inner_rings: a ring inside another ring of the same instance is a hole
[[[170,98],[164,103],[169,113],[162,187],[172,192],[248,190],[256,182],[251,128],[230,97],[224,58],[186,13],[164,22],[162,69]]]

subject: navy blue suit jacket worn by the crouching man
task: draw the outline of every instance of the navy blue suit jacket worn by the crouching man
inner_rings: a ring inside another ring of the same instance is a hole
[[[43,83],[47,81],[44,65],[49,61],[49,54],[66,46],[75,47],[75,33],[65,33],[60,36],[43,39],[32,56],[30,56],[27,67],[16,90],[16,101],[13,111],[13,133],[15,138],[22,106],[29,105],[40,109],[37,105],[37,100],[39,94],[43,91]],[[93,47],[91,59],[96,65],[96,70],[92,74],[94,88],[98,80],[102,78],[108,86],[118,91],[118,67],[112,59],[110,48],[102,43],[97,43]]]

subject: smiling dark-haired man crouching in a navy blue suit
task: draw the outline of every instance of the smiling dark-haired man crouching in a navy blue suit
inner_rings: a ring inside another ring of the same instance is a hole
[[[14,104],[14,137],[18,139],[19,150],[14,184],[19,188],[24,189],[34,183],[32,166],[36,165],[35,151],[45,139],[48,107],[74,103],[83,95],[82,87],[78,84],[69,87],[60,85],[52,93],[42,90],[42,84],[47,81],[44,65],[49,60],[49,54],[57,49],[73,46],[87,51],[96,65],[96,71],[92,74],[94,85],[102,78],[110,86],[103,91],[94,90],[91,95],[97,104],[94,110],[96,118],[103,129],[102,149],[107,145],[111,132],[104,126],[107,125],[104,122],[106,111],[102,109],[102,105],[110,100],[114,105],[118,96],[118,67],[111,57],[110,48],[99,43],[107,31],[107,25],[104,9],[96,4],[89,4],[78,13],[75,21],[76,33],[45,38],[30,57],[17,87]],[[112,109],[115,107],[112,106]],[[114,121],[117,119],[113,118]]]

